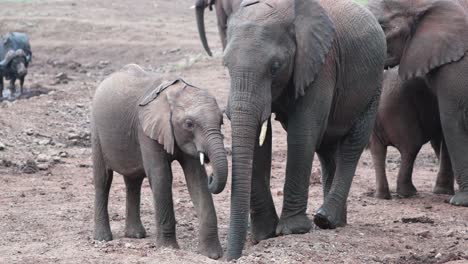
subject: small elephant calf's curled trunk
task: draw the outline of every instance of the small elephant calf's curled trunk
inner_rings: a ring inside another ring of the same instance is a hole
[[[218,194],[224,190],[228,176],[226,149],[218,130],[207,137],[207,155],[213,168],[213,175],[208,178],[208,188],[211,193]]]

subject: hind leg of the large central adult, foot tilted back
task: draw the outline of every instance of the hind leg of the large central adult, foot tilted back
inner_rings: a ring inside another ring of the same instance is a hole
[[[347,223],[346,202],[356,167],[374,126],[379,96],[374,96],[366,113],[353,125],[338,145],[336,172],[330,193],[314,217],[322,229],[333,229]]]

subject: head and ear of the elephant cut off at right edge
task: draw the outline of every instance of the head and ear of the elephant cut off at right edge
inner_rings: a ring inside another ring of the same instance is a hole
[[[386,67],[407,80],[460,60],[468,50],[468,14],[454,0],[370,0],[387,39]]]

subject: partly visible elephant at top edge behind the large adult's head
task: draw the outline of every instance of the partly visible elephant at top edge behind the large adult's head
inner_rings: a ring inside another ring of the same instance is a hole
[[[196,17],[197,17],[197,26],[198,33],[200,34],[200,40],[202,42],[203,48],[205,48],[208,55],[212,55],[210,46],[208,45],[208,40],[206,39],[205,31],[205,9],[209,7],[210,10],[213,10],[213,5],[216,9],[216,18],[218,20],[218,32],[219,37],[221,38],[221,43],[223,44],[223,49],[226,47],[226,29],[227,21],[229,16],[239,9],[240,3],[242,0],[197,0],[195,3]]]

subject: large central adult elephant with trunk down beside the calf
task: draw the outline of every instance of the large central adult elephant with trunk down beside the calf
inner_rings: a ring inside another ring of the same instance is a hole
[[[385,50],[377,20],[352,1],[245,0],[231,16],[224,51],[233,164],[228,259],[241,256],[249,209],[257,241],[310,230],[315,152],[324,203],[314,221],[321,228],[346,224],[351,182],[375,120]],[[280,219],[269,188],[272,113],[288,132]]]

